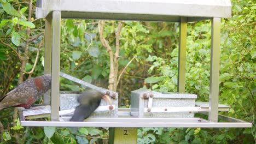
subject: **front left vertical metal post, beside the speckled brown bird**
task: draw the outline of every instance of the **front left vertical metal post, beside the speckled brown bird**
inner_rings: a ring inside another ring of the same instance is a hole
[[[61,11],[53,11],[51,57],[51,121],[59,121]]]

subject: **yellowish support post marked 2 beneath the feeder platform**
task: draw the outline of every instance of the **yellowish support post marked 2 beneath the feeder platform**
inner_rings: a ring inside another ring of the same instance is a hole
[[[112,128],[109,130],[109,143],[137,143],[137,128]]]

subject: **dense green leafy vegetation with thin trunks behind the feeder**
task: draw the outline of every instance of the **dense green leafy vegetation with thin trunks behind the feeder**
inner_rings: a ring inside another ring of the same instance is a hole
[[[0,98],[18,83],[43,74],[44,20],[36,1],[0,0]],[[252,128],[141,128],[139,143],[255,143],[255,9],[251,0],[232,0],[231,19],[222,19],[219,102],[226,116]],[[62,20],[61,71],[119,92],[129,107],[130,92],[146,87],[177,91],[178,23]],[[211,22],[188,24],[186,92],[208,101]],[[112,79],[109,79],[109,75]],[[61,90],[82,91],[61,79]],[[38,103],[42,103],[39,100]],[[106,143],[108,129],[21,127],[13,108],[0,112],[1,143]]]

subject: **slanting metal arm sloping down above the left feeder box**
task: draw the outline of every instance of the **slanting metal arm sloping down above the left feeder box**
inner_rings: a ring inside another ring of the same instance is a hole
[[[84,86],[89,87],[91,89],[95,89],[96,91],[99,91],[101,93],[106,93],[106,94],[109,93],[108,95],[110,97],[114,98],[114,99],[118,98],[118,93],[110,91],[109,89],[102,88],[102,87],[97,87],[95,85],[92,85],[91,83],[82,81],[80,79],[77,79],[77,78],[75,78],[75,77],[73,77],[71,75],[68,75],[68,74],[65,74],[65,73],[62,73],[62,72],[60,72],[60,76],[64,77],[65,79],[71,80],[73,82],[79,83],[80,85],[84,85]]]

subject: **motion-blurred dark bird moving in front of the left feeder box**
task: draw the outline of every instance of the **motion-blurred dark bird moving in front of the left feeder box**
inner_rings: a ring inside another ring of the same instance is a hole
[[[101,99],[107,103],[111,101],[108,95],[104,95],[94,89],[84,91],[77,98],[79,105],[75,107],[74,115],[70,119],[72,122],[83,122],[94,112],[101,103]]]

